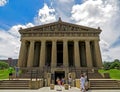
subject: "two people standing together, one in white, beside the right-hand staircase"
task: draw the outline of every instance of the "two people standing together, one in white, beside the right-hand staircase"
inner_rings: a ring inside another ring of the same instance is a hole
[[[80,77],[81,91],[85,92],[88,90],[88,78],[86,73],[82,73]]]

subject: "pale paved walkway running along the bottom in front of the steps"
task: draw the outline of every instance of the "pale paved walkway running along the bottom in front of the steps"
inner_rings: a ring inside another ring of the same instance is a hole
[[[18,89],[14,89],[14,90],[0,90],[0,92],[81,92],[79,88],[76,88],[76,87],[72,87],[71,89],[69,90],[65,90],[64,87],[62,87],[62,91],[57,91],[57,88],[59,88],[58,86],[55,86],[55,89],[54,90],[50,90],[50,87],[43,87],[43,88],[40,88],[40,89],[37,89],[37,90],[27,90],[27,89],[24,89],[24,90],[18,90]],[[120,90],[89,90],[89,91],[86,91],[86,92],[120,92]]]

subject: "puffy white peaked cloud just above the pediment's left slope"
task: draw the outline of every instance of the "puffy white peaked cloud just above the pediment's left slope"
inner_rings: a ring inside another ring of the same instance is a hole
[[[36,24],[45,24],[56,21],[55,9],[50,8],[44,4],[42,9],[39,9],[37,17],[35,17]]]

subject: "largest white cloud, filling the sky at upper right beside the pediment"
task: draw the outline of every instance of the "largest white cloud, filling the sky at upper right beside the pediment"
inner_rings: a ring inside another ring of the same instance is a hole
[[[117,54],[119,47],[111,47],[120,37],[118,3],[119,0],[83,0],[82,4],[76,4],[72,7],[71,19],[75,23],[101,27],[100,46],[103,60],[120,59],[120,55]]]

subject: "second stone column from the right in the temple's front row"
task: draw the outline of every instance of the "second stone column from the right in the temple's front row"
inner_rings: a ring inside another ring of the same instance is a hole
[[[92,57],[91,57],[91,50],[90,50],[90,41],[85,41],[85,48],[86,48],[86,61],[87,61],[87,67],[92,67]]]

